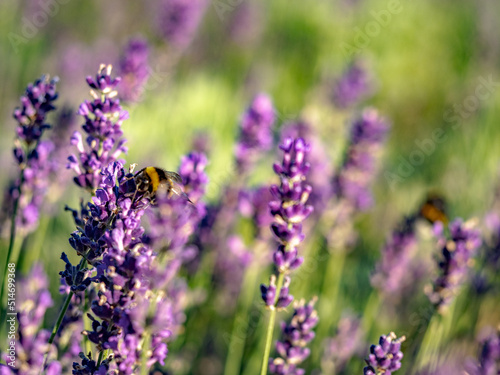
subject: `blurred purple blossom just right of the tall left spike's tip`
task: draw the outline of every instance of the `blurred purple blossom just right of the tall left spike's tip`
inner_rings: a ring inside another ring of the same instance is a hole
[[[120,97],[126,102],[141,100],[149,78],[149,48],[145,39],[131,39],[120,60]]]

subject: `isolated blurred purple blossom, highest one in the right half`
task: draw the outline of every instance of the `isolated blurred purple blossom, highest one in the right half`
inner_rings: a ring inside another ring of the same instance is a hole
[[[338,80],[332,99],[338,108],[355,106],[372,91],[370,78],[359,62],[353,62]]]

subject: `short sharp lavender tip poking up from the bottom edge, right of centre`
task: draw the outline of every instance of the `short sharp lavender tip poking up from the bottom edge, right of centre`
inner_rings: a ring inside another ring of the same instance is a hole
[[[364,374],[391,375],[394,371],[399,370],[403,359],[401,351],[403,341],[405,341],[405,337],[397,338],[394,332],[380,336],[378,345],[370,347],[370,354],[365,359],[368,366],[364,368]]]

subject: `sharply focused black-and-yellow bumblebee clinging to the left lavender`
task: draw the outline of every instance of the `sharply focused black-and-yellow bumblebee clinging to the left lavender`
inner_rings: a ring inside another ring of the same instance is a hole
[[[185,197],[191,202],[183,190],[182,177],[175,172],[157,167],[146,167],[134,176],[136,194],[149,198],[154,202],[157,192],[165,193],[169,198],[173,195]]]

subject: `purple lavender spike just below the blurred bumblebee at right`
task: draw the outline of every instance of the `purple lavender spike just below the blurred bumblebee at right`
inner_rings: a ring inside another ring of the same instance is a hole
[[[461,219],[455,219],[449,224],[449,239],[443,233],[441,222],[436,222],[434,231],[438,236],[438,246],[441,247],[439,276],[426,292],[436,308],[443,311],[464,283],[470,261],[481,246],[481,235],[474,222],[462,222]]]

